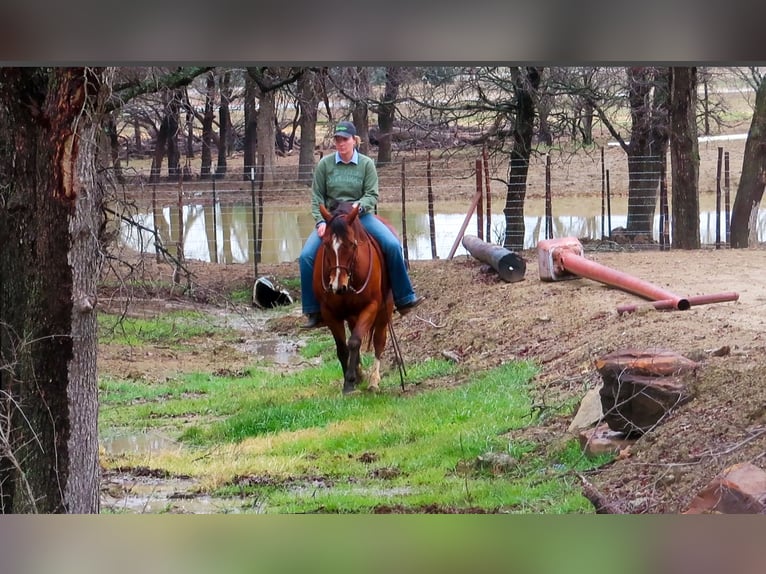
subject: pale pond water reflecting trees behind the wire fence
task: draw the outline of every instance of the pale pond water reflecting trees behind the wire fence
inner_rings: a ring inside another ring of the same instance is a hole
[[[570,198],[555,200],[553,203],[554,237],[579,237],[600,239],[602,229],[623,227],[627,222],[627,200],[618,198],[611,202],[611,219],[603,221],[600,198]],[[700,239],[702,244],[714,244],[716,241],[716,213],[714,194],[701,197]],[[465,221],[464,205],[437,205],[434,215],[436,257],[446,258],[455,244],[456,237]],[[402,234],[401,210],[398,206],[384,206],[380,215],[388,219]],[[260,252],[259,262],[281,263],[294,261],[300,254],[304,238],[314,227],[314,221],[306,206],[264,207],[262,225],[254,215],[249,204],[213,207],[186,205],[183,208],[183,254],[187,259],[212,261],[219,263],[248,263],[253,261],[254,253]],[[177,254],[177,243],[181,225],[177,207],[164,207],[156,213],[139,213],[133,217],[140,228],[130,224],[121,224],[120,238],[123,244],[148,253],[155,252],[155,229],[162,244]],[[524,248],[529,249],[545,239],[544,204],[541,200],[530,200],[525,208]],[[610,226],[611,224],[611,226]],[[477,218],[470,219],[465,233],[478,235]],[[720,217],[720,239],[726,239],[726,219]],[[482,231],[486,234],[486,221]],[[500,210],[492,213],[489,225],[489,237],[485,240],[501,242],[505,219]],[[431,259],[431,232],[425,204],[412,204],[406,210],[406,243],[410,259]],[[255,242],[254,237],[258,237]],[[766,211],[758,214],[757,236],[759,241],[766,238]],[[659,215],[654,219],[654,239],[659,239]],[[257,247],[254,248],[254,247]],[[455,253],[466,251],[458,243]]]

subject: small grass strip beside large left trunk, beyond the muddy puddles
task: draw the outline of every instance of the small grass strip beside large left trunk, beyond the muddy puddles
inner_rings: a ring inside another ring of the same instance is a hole
[[[130,346],[165,344],[175,347],[182,346],[182,341],[209,336],[221,330],[212,325],[205,314],[196,311],[174,311],[153,318],[98,314],[100,343]]]

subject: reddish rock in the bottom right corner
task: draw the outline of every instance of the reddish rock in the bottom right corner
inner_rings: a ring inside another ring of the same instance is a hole
[[[766,514],[766,471],[735,464],[716,476],[684,514]]]

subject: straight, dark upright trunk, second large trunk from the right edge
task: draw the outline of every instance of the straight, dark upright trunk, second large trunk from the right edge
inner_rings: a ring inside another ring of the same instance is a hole
[[[671,68],[670,164],[673,178],[673,247],[699,249],[699,145],[697,69]]]

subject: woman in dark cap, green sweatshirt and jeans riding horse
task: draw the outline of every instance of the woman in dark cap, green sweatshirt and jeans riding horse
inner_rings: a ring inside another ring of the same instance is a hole
[[[372,159],[357,150],[360,142],[354,124],[338,123],[334,136],[335,153],[319,160],[314,169],[311,214],[316,221],[316,228],[306,239],[299,259],[301,303],[303,312],[308,315],[308,322],[303,325],[306,329],[322,324],[319,302],[312,287],[314,259],[327,226],[319,213],[319,205],[322,203],[329,209],[329,204],[335,201],[358,202],[359,221],[383,251],[396,310],[400,315],[406,315],[423,302],[423,297],[415,295],[410,283],[399,239],[385,223],[373,215],[378,203],[378,172]]]

